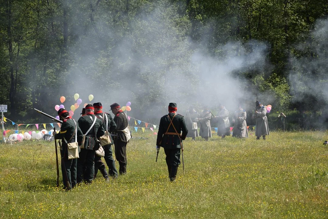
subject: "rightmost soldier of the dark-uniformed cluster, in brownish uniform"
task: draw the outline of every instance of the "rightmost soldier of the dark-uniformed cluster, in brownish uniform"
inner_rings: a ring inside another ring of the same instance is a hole
[[[124,133],[128,126],[128,119],[121,107],[117,103],[113,103],[111,105],[111,110],[114,116],[114,122],[116,124],[116,128],[114,129],[113,133],[117,136],[114,137],[114,144],[115,144],[115,157],[118,161],[119,173],[120,175],[126,174],[126,165],[127,165],[127,158],[126,158],[126,145],[129,142],[127,135]],[[129,133],[130,134],[130,133]],[[131,134],[130,137],[131,138]]]

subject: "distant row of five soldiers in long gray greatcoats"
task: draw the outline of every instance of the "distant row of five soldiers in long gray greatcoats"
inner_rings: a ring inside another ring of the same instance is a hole
[[[187,127],[189,129],[187,137],[195,140],[196,137],[201,136],[206,141],[212,137],[211,121],[217,123],[217,135],[221,138],[230,135],[230,120],[229,112],[223,104],[219,104],[220,111],[217,116],[207,108],[201,111],[200,114],[191,106],[186,113]],[[269,135],[268,119],[266,116],[267,110],[259,101],[256,101],[256,111],[253,118],[256,119],[255,135],[258,140],[261,136],[265,140],[265,136]],[[247,113],[242,106],[238,104],[233,116],[232,123],[234,129],[232,136],[237,138],[248,138],[248,130],[246,123]],[[199,124],[199,133],[198,133]]]

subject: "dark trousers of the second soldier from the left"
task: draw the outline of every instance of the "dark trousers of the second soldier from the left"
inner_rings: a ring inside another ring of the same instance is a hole
[[[94,150],[81,148],[79,158],[77,159],[77,183],[82,183],[83,180],[87,183],[90,183],[93,180],[93,176]]]

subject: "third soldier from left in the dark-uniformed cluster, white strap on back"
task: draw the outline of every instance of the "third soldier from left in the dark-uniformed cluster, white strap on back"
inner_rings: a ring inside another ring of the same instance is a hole
[[[102,111],[102,104],[99,103],[93,103],[93,107],[94,107],[94,114],[96,115],[96,117],[98,117],[100,120],[102,120],[103,122],[103,128],[105,129],[105,131],[108,131],[109,133],[113,132],[116,128],[116,123],[114,122],[111,114],[109,113],[104,113]],[[114,144],[112,136],[110,135],[111,138],[111,142],[110,144],[107,145],[102,145],[105,151],[105,161],[106,164],[109,168],[109,175],[111,177],[113,177],[114,179],[117,178],[117,169],[115,166],[115,161],[113,159],[113,152],[112,152],[112,145]],[[100,159],[99,159],[100,160]]]

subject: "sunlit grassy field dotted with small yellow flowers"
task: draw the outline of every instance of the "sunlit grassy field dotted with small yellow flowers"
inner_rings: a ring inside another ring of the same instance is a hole
[[[328,218],[327,133],[188,139],[174,183],[155,136],[137,136],[127,175],[70,192],[55,186],[53,142],[0,144],[0,218]]]

